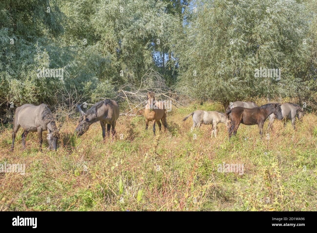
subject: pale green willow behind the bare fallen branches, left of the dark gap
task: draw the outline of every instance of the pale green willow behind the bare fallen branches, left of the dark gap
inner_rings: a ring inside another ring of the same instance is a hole
[[[65,1],[68,27],[65,36],[83,49],[96,50],[107,59],[98,72],[100,79],[117,84],[138,82],[150,67],[158,46],[164,47],[176,26],[166,12],[168,3],[155,0]],[[91,61],[89,61],[91,62]]]

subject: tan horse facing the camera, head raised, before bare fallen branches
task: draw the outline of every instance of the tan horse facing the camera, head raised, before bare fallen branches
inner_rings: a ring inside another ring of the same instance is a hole
[[[159,130],[161,130],[161,126],[163,124],[164,128],[167,128],[167,121],[166,121],[166,108],[163,102],[159,102],[155,100],[154,92],[147,92],[146,100],[147,104],[144,110],[144,117],[145,117],[145,129],[147,130],[149,121],[153,121],[153,133],[155,136],[155,122],[159,126]],[[160,122],[162,120],[162,124]]]

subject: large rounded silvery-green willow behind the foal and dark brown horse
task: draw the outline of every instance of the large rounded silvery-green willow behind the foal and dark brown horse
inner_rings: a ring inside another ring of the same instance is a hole
[[[227,106],[254,96],[289,96],[311,53],[305,5],[292,0],[192,1],[176,37],[179,87]],[[256,69],[281,69],[281,78]],[[258,76],[258,77],[257,77]]]

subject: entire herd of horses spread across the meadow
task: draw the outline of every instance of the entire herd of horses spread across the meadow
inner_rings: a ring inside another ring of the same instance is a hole
[[[161,126],[167,128],[166,121],[166,107],[164,102],[156,101],[154,92],[148,92],[146,95],[146,107],[144,111],[145,123],[148,128],[148,123],[153,123],[153,133],[155,135],[155,125],[158,124],[159,130]],[[97,121],[100,122],[102,128],[103,140],[107,136],[112,137],[116,135],[115,126],[116,121],[119,118],[119,106],[114,100],[105,99],[98,103],[95,103],[89,108],[86,113],[81,109],[82,105],[77,105],[78,111],[81,113],[81,117],[78,120],[78,126],[74,133],[77,136],[81,136],[89,129],[89,126]],[[303,108],[297,104],[284,103],[280,105],[277,102],[271,102],[258,107],[254,102],[230,102],[225,113],[215,111],[203,111],[196,110],[186,116],[183,121],[192,115],[193,126],[191,129],[199,128],[201,124],[211,125],[211,133],[217,137],[217,124],[224,123],[229,132],[229,139],[231,135],[236,135],[239,125],[258,125],[260,135],[262,136],[262,129],[264,121],[268,118],[268,128],[272,125],[275,118],[279,120],[291,120],[292,125],[295,128],[295,117],[300,119],[303,116]],[[161,122],[162,121],[162,124]],[[284,121],[284,126],[286,121]],[[42,151],[42,132],[48,131],[47,141],[49,144],[48,149],[56,150],[57,140],[59,138],[59,130],[56,126],[52,112],[46,104],[34,106],[32,104],[24,104],[21,107],[16,108],[15,117],[13,120],[12,131],[12,144],[11,151],[14,149],[14,140],[19,128],[24,129],[22,133],[22,146],[25,149],[25,139],[29,132],[37,132],[40,144],[40,150]]]

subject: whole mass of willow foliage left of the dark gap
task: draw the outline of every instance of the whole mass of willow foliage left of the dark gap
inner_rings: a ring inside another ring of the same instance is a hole
[[[118,86],[139,82],[148,68],[158,68],[154,56],[177,26],[167,5],[155,0],[0,3],[0,104],[69,102],[64,95],[74,88],[78,99],[91,103],[114,97]],[[38,77],[43,67],[63,68],[63,80]]]

